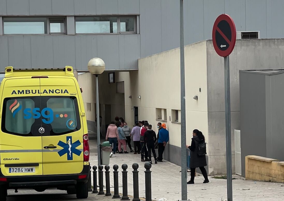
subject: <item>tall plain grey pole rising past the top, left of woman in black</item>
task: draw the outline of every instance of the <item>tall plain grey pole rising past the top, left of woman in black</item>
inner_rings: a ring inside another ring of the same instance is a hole
[[[183,41],[183,0],[179,2],[180,14],[180,102],[181,102],[181,200],[187,200],[187,164],[186,164],[186,126],[185,126],[185,75]]]

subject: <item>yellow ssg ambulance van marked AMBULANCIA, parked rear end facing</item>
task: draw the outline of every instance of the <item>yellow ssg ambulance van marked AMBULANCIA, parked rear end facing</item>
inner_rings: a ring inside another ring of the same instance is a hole
[[[0,84],[0,200],[7,189],[88,197],[88,129],[73,68],[5,68]]]

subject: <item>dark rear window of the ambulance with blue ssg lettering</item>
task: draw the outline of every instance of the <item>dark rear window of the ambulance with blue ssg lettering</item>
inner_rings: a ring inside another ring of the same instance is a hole
[[[75,96],[5,98],[2,114],[1,130],[12,135],[64,135],[81,128]]]

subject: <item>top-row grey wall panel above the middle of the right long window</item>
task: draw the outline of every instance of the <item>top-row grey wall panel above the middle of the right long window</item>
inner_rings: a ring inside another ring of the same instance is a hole
[[[118,14],[118,0],[96,0],[97,15]]]

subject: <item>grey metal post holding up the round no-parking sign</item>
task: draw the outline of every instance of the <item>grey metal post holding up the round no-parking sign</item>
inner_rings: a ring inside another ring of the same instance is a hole
[[[226,161],[227,161],[227,200],[233,200],[232,188],[232,148],[231,148],[231,99],[229,56],[224,57],[225,70],[225,119],[226,119]]]

